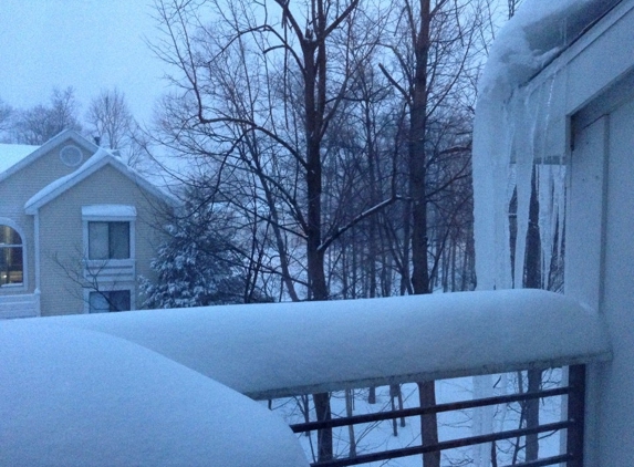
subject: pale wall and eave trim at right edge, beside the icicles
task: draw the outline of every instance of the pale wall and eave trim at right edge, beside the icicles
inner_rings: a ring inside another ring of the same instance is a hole
[[[557,134],[545,136],[568,146],[565,294],[611,333],[613,360],[588,371],[586,466],[634,465],[633,31],[634,0],[624,0],[515,96],[521,107],[540,86],[557,90]]]

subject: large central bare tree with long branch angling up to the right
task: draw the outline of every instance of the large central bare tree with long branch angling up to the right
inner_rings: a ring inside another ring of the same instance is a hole
[[[165,139],[214,159],[227,179],[241,174],[235,179],[256,184],[252,214],[274,232],[285,287],[292,295],[301,284],[309,300],[331,298],[325,267],[333,243],[397,199],[391,194],[344,216],[334,194],[324,194],[324,169],[341,158],[326,144],[329,129],[382,30],[378,22],[356,28],[360,17],[378,18],[360,3],[157,2],[166,34],[155,51],[176,66],[172,81],[179,90],[165,101]],[[215,23],[204,17],[206,8]],[[303,248],[294,260],[288,255],[293,243]],[[329,395],[314,394],[313,402],[318,419],[330,418]],[[318,438],[318,458],[331,458],[331,430]]]

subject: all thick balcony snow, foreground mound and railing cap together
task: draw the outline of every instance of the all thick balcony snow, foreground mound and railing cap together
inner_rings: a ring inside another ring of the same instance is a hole
[[[242,394],[582,364],[611,350],[592,311],[508,290],[12,320],[0,353],[1,464],[299,466],[289,427]]]

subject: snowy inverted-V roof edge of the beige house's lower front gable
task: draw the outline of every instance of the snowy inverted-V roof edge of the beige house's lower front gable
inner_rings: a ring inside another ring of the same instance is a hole
[[[133,169],[132,167],[127,166],[126,164],[121,160],[119,157],[113,155],[107,149],[100,147],[97,152],[91,156],[84,164],[82,164],[75,172],[62,177],[58,178],[55,181],[46,185],[40,191],[31,197],[24,204],[24,210],[27,214],[34,215],[38,209],[42,206],[52,201],[61,194],[67,191],[92,174],[96,173],[101,168],[110,165],[111,167],[118,170],[121,174],[129,178],[134,184],[139,186],[141,188],[145,189],[146,191],[153,194],[158,199],[163,200],[164,203],[176,206],[176,199],[167,194],[166,191],[158,188],[156,185],[149,183],[138,172]]]

